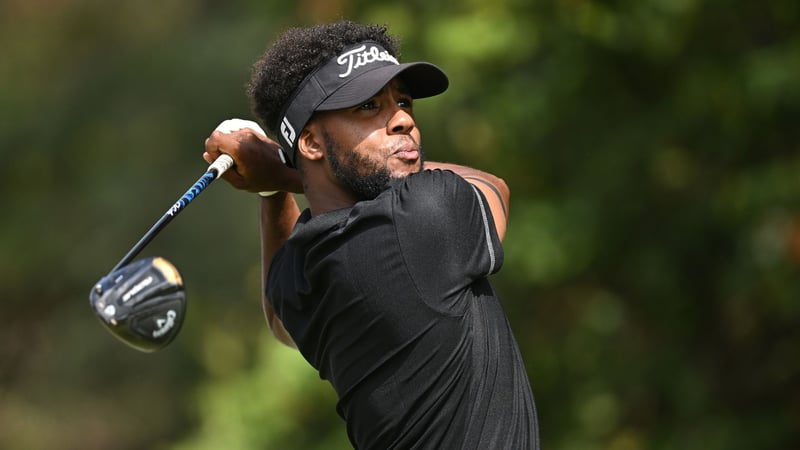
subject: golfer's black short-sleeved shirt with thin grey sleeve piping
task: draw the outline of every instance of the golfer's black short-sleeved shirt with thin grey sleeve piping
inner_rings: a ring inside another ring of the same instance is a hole
[[[487,276],[503,262],[485,198],[450,171],[304,211],[267,295],[336,390],[359,449],[538,448],[533,395]]]

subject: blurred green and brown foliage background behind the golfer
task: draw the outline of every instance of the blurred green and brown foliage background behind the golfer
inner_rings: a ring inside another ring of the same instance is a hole
[[[0,448],[348,448],[268,335],[257,202],[215,185],[144,252],[187,283],[155,354],[89,288],[250,118],[289,26],[386,23],[452,85],[431,159],[512,189],[494,279],[548,449],[800,447],[800,3],[4,0]]]

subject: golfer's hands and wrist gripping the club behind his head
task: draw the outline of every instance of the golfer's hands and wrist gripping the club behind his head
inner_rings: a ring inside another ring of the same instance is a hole
[[[303,192],[300,174],[284,163],[278,144],[255,122],[230,119],[219,124],[206,139],[203,159],[211,163],[222,153],[234,163],[222,178],[236,189]]]

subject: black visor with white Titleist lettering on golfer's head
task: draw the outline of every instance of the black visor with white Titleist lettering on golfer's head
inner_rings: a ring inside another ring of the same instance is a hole
[[[345,47],[339,55],[314,69],[294,91],[276,126],[287,160],[296,165],[297,137],[315,111],[356,106],[397,76],[415,99],[441,94],[449,85],[447,75],[435,65],[400,64],[374,41]]]

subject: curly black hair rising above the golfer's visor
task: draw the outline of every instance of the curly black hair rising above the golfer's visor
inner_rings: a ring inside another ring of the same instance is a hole
[[[389,35],[385,25],[341,21],[288,29],[253,64],[247,87],[253,113],[277,135],[281,111],[306,76],[345,47],[367,40],[379,43],[399,59],[400,40]]]

